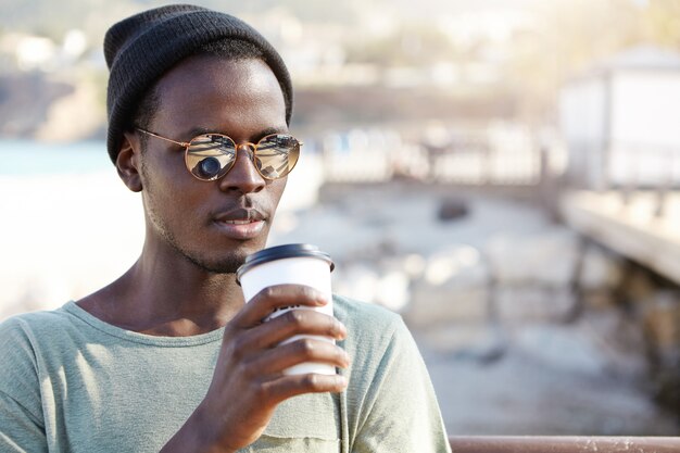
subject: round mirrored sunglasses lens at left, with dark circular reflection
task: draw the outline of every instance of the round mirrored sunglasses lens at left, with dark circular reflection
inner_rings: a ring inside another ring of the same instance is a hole
[[[199,179],[224,176],[236,159],[236,144],[227,136],[206,134],[191,140],[187,150],[187,168]]]

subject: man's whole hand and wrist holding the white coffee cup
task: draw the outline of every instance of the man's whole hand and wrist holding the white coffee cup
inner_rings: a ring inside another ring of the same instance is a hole
[[[347,353],[333,343],[303,338],[281,344],[297,335],[341,340],[347,331],[338,319],[311,310],[291,310],[262,322],[276,309],[326,303],[318,291],[298,285],[274,286],[257,293],[227,324],[207,394],[182,429],[194,421],[201,441],[212,445],[209,451],[234,452],[260,438],[284,400],[344,390],[342,376],[282,373],[303,362],[348,367]]]

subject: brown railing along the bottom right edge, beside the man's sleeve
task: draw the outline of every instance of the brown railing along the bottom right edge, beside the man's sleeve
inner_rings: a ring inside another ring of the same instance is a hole
[[[453,453],[680,453],[680,437],[454,436]]]

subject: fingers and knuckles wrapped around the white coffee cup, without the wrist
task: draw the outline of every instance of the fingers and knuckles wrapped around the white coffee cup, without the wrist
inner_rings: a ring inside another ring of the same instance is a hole
[[[313,310],[328,302],[322,292],[300,285],[260,291],[227,325],[221,354],[224,366],[218,364],[217,369],[230,370],[232,379],[250,388],[245,393],[267,404],[302,393],[342,391],[347,379],[341,376],[284,375],[285,369],[302,363],[349,366],[347,353],[327,340],[344,339],[344,325]],[[290,306],[297,307],[263,323],[276,310]]]

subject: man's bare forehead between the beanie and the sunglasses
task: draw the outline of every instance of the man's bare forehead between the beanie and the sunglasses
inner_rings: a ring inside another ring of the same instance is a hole
[[[155,90],[160,109],[153,123],[159,133],[176,136],[202,128],[248,135],[286,128],[284,93],[259,59],[191,56],[165,74]]]

